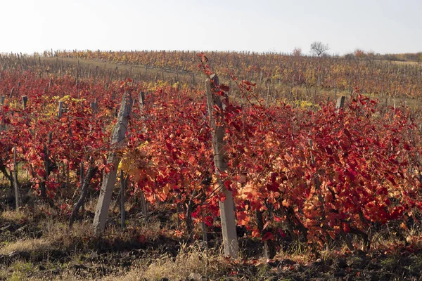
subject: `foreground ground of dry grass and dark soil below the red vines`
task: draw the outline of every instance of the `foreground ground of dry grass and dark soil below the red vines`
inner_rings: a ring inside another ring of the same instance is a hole
[[[0,280],[422,280],[416,232],[402,240],[391,231],[373,239],[368,252],[344,245],[310,251],[281,241],[272,260],[262,258],[260,241],[244,236],[241,259],[230,261],[218,229],[208,233],[207,247],[186,242],[183,223],[165,206],[151,208],[146,221],[127,202],[126,230],[116,208],[99,238],[91,232],[95,200],[69,230],[70,205],[50,206],[23,188],[25,207],[13,210],[8,188],[0,190]]]

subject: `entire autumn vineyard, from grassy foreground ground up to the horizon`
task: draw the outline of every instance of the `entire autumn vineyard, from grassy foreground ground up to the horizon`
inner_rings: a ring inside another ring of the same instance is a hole
[[[418,280],[421,93],[421,63],[2,55],[0,280]]]

